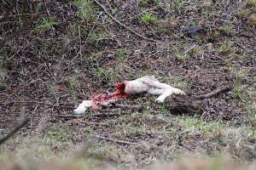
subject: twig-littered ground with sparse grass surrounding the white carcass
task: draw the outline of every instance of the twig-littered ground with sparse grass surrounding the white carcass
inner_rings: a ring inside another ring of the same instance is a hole
[[[31,118],[1,155],[64,159],[96,136],[84,161],[97,165],[147,168],[189,154],[255,161],[254,0],[1,2],[1,135],[20,115]],[[170,112],[145,95],[122,102],[142,111],[70,116],[91,94],[145,75],[189,96],[232,89],[204,99],[201,115]]]

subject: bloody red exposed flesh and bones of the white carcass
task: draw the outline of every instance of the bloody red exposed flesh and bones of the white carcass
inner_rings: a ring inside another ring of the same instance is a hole
[[[90,99],[94,101],[94,104],[91,106],[91,109],[99,109],[101,106],[109,105],[111,103],[117,102],[119,100],[125,99],[127,94],[125,94],[125,84],[124,83],[117,83],[115,85],[116,91],[111,94],[96,94],[92,95]]]

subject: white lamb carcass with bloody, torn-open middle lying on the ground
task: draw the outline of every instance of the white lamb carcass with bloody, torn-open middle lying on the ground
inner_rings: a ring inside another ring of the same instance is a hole
[[[84,100],[77,109],[76,114],[82,114],[88,108],[97,109],[100,106],[108,106],[126,96],[135,94],[160,95],[156,102],[163,103],[166,97],[172,94],[185,94],[181,89],[173,88],[166,83],[159,82],[154,76],[145,76],[132,81],[124,81],[116,84],[116,92],[112,94],[97,94],[91,96],[90,100]]]

